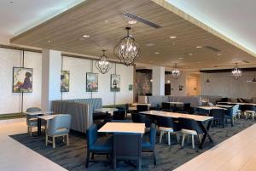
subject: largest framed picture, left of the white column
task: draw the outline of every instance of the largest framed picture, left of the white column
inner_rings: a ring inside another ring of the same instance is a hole
[[[13,67],[13,93],[32,93],[33,69]]]

